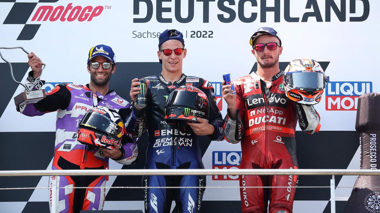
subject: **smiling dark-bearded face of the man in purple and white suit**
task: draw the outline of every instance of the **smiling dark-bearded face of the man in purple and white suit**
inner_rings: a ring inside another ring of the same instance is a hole
[[[94,69],[91,67],[92,62],[98,62],[99,67]],[[108,85],[111,75],[114,74],[116,70],[116,65],[111,66],[109,69],[104,69],[102,64],[103,62],[112,62],[103,56],[96,56],[90,61],[90,64],[87,65],[87,71],[90,73],[90,81],[97,86]]]

